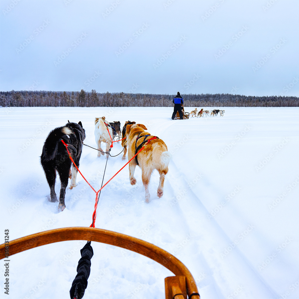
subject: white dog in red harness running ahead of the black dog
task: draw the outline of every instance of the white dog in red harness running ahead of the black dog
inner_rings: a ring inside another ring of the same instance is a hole
[[[99,150],[99,152],[97,153],[97,156],[100,157],[100,155],[104,155],[105,152],[103,151],[103,149],[101,148],[101,142],[106,142],[106,152],[109,151],[110,148],[110,144],[111,144],[111,138],[113,136],[113,132],[112,132],[112,128],[109,124],[108,121],[105,121],[105,117],[101,117],[98,118],[96,117],[94,119],[94,124],[95,124],[95,128],[94,128],[94,137],[95,137],[95,142],[97,144],[97,149]],[[108,133],[108,130],[110,133]],[[106,154],[106,158],[107,158],[108,154]]]

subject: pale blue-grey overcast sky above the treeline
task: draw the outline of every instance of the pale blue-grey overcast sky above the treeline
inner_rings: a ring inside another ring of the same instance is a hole
[[[0,90],[299,96],[298,0],[1,0]]]

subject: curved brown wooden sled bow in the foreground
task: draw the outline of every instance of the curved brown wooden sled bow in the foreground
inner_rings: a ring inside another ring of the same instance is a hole
[[[68,227],[43,231],[9,241],[9,256],[42,245],[70,240],[106,243],[135,251],[160,263],[176,276],[165,278],[166,299],[200,299],[195,280],[187,267],[169,252],[141,239],[100,228]],[[4,259],[5,245],[0,245],[0,259]]]

